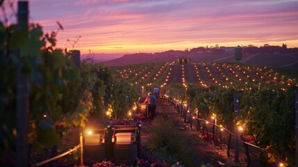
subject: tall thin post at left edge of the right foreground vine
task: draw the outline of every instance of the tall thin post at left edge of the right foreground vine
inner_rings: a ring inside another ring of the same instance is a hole
[[[234,125],[235,125],[235,166],[239,164],[239,134],[237,129],[237,117],[238,117],[238,90],[234,90],[234,111],[235,111],[235,118],[234,118]]]

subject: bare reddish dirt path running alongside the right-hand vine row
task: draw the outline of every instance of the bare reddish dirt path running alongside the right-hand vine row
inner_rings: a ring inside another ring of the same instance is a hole
[[[159,100],[158,107],[156,109],[156,116],[166,116],[174,122],[177,130],[181,131],[185,136],[188,147],[192,148],[194,152],[194,164],[195,166],[211,165],[211,166],[233,166],[233,162],[226,157],[226,152],[220,150],[220,148],[213,146],[210,141],[205,141],[201,138],[196,129],[190,129],[187,124],[183,123],[183,118],[179,116],[179,113],[174,106],[168,105],[164,100]],[[151,122],[142,123],[141,142],[145,145],[149,138],[148,129],[151,128]],[[185,152],[188,154],[188,152]]]

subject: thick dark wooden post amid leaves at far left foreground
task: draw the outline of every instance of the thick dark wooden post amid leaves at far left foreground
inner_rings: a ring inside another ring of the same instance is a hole
[[[17,22],[18,29],[28,29],[28,1],[18,1]],[[18,51],[20,53],[20,51]],[[18,53],[18,54],[19,54]],[[22,55],[19,61],[22,62]],[[28,111],[29,111],[28,76],[23,74],[22,66],[17,73],[17,143],[16,166],[29,166],[28,163]]]

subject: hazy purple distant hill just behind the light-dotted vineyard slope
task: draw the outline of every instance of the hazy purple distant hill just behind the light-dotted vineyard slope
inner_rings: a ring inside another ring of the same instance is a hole
[[[190,58],[190,61],[196,63],[211,63],[211,62],[234,62],[233,54],[224,53],[202,53],[201,51],[164,51],[154,54],[139,53],[139,54],[125,54],[122,57],[115,58],[110,61],[106,61],[107,66],[117,65],[131,65],[140,63],[151,63],[151,62],[163,62],[163,61],[177,61],[179,57]],[[251,54],[246,53],[243,55],[244,61],[247,64],[254,65],[265,65],[269,67],[288,67],[298,69],[298,54],[268,54],[268,53],[257,53]]]

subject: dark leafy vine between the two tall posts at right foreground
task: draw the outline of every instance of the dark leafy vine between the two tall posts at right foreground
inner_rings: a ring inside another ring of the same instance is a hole
[[[249,96],[240,111],[247,113],[241,119],[246,132],[256,135],[261,148],[295,164],[295,87],[286,91],[258,90],[243,96]]]

